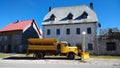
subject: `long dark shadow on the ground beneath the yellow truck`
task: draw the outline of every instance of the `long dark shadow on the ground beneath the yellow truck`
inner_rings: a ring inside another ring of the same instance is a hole
[[[66,57],[45,57],[43,59],[36,59],[34,57],[7,57],[7,58],[3,58],[3,60],[69,60]],[[80,58],[77,58],[75,60],[81,60]]]

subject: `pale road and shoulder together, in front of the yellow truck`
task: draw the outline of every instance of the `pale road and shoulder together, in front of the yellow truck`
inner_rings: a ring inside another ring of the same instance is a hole
[[[0,68],[120,68],[120,61],[89,59],[83,63],[80,60],[65,59],[1,59]]]

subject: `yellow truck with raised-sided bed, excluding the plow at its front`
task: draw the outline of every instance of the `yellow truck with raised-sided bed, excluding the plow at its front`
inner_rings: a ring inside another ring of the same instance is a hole
[[[27,54],[33,53],[36,59],[42,59],[45,55],[66,56],[68,59],[74,59],[75,55],[81,56],[81,50],[76,46],[69,46],[67,41],[58,42],[54,38],[30,38]]]

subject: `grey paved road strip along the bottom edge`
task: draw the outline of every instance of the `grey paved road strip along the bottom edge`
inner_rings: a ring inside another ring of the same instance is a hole
[[[23,63],[1,63],[0,68],[120,68],[114,65],[100,64],[23,64]]]

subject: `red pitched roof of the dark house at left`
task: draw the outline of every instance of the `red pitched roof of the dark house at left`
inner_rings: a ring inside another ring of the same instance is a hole
[[[38,28],[38,26],[37,26],[37,24],[36,24],[36,22],[34,20],[17,21],[17,22],[10,23],[6,27],[0,29],[0,32],[24,30],[31,23],[35,24],[35,26],[37,27],[37,30],[38,30],[39,34],[41,34],[40,31],[39,31],[39,28]]]

